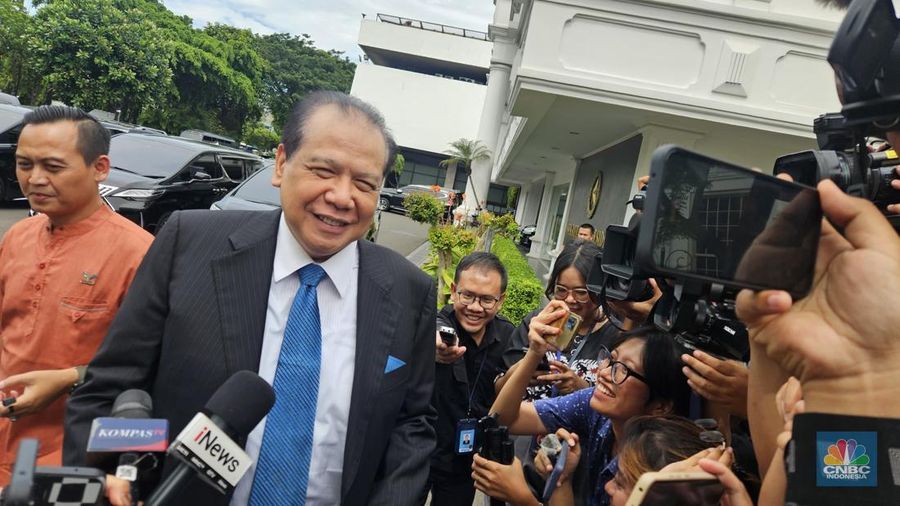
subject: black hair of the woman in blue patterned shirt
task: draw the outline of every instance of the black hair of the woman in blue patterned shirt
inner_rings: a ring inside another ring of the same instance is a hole
[[[634,338],[644,340],[641,364],[650,390],[647,402],[657,399],[669,401],[672,403],[672,414],[689,416],[691,387],[687,383],[687,376],[682,372],[684,362],[681,361],[681,355],[688,350],[680,345],[672,334],[651,326],[624,333],[619,344]]]

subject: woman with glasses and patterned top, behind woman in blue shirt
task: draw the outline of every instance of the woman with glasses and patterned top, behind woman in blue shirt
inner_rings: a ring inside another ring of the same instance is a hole
[[[543,399],[554,395],[565,395],[594,385],[594,369],[597,352],[601,346],[613,345],[619,332],[600,311],[587,289],[587,278],[594,266],[594,257],[600,254],[600,247],[592,241],[577,239],[568,244],[556,258],[550,281],[544,292],[548,299],[562,301],[569,311],[581,317],[581,326],[575,337],[564,350],[553,353],[543,362],[542,370],[535,382],[528,388],[526,398]],[[503,354],[504,362],[512,373],[528,349],[528,325],[541,309],[526,316],[522,324],[510,336],[509,349]],[[505,377],[496,383],[499,391]]]

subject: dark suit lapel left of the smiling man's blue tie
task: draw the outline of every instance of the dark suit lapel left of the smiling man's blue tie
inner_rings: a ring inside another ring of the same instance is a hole
[[[273,211],[247,220],[229,236],[232,250],[212,262],[229,377],[259,370],[280,216]]]

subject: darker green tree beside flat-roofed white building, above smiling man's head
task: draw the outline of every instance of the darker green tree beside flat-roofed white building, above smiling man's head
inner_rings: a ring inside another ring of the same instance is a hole
[[[356,69],[339,51],[317,49],[309,35],[275,33],[256,37],[256,48],[268,62],[261,97],[281,129],[295,103],[315,90],[348,93]]]

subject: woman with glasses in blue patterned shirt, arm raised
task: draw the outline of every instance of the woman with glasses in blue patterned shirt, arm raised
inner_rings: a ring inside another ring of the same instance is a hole
[[[656,330],[629,333],[615,349],[597,354],[597,384],[572,394],[522,402],[531,377],[559,330],[550,325],[567,312],[551,301],[531,320],[529,348],[491,407],[510,434],[542,435],[566,429],[584,447],[588,485],[580,492],[591,505],[609,504],[604,490],[617,471],[616,441],[625,423],[642,415],[686,416],[690,387],[681,372],[683,349],[672,336]],[[577,498],[576,498],[577,499]]]

